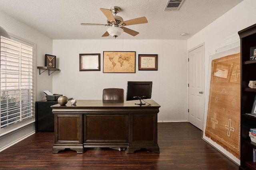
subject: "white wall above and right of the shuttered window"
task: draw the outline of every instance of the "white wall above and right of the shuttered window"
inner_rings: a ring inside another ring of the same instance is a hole
[[[52,53],[52,39],[2,12],[0,25],[8,33],[35,43],[36,66],[44,66],[44,55]],[[36,101],[45,96],[42,92],[45,89],[52,90],[52,76],[48,76],[46,72],[39,76],[39,70],[36,69]]]

